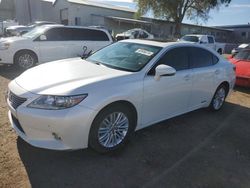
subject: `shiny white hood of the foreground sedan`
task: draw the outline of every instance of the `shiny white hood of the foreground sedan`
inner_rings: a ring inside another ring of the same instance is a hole
[[[77,95],[84,92],[84,86],[129,74],[131,72],[72,58],[31,68],[17,77],[15,82],[34,94]]]

